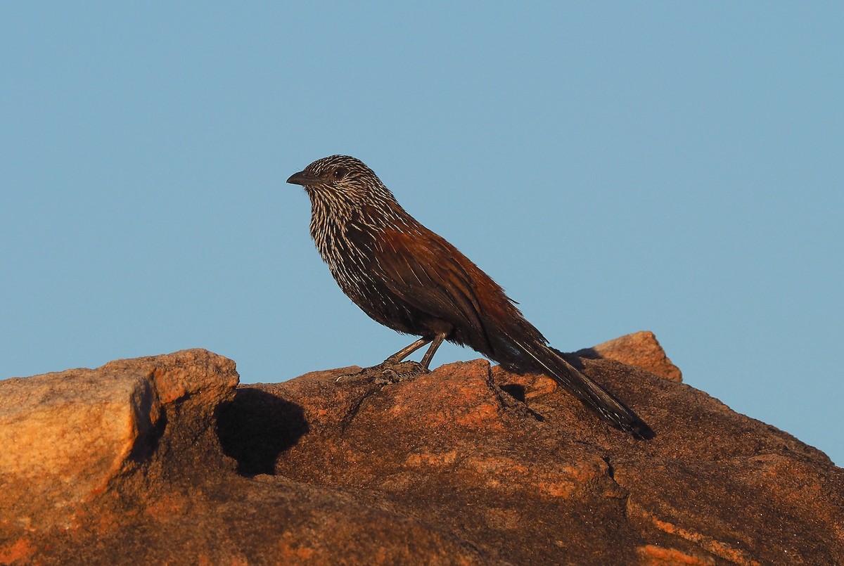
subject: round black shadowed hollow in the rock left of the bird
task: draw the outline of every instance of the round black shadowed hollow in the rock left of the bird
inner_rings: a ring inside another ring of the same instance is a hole
[[[219,409],[217,435],[241,476],[273,474],[279,454],[309,430],[302,407],[248,386]]]

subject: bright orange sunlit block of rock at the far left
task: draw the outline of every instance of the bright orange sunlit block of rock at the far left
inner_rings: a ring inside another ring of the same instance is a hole
[[[68,528],[155,450],[166,409],[192,398],[206,409],[192,428],[208,429],[237,382],[204,350],[0,381],[0,525]]]

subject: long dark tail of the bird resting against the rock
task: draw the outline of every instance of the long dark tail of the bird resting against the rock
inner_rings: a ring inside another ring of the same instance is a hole
[[[618,429],[632,433],[636,438],[650,439],[655,435],[635,412],[577,371],[559,353],[544,343],[524,343],[517,340],[513,340],[513,343],[527,357],[524,360],[527,364],[549,375],[603,420]]]

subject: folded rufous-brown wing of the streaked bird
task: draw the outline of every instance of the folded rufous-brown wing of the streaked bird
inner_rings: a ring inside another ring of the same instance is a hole
[[[386,231],[375,246],[373,268],[387,288],[414,309],[452,326],[471,326],[484,336],[477,289],[467,272],[479,268],[437,234],[417,230],[424,234]]]

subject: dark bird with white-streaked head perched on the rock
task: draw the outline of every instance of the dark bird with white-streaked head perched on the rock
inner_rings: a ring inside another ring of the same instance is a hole
[[[654,436],[635,412],[550,348],[498,283],[405,211],[360,159],[317,159],[287,182],[310,198],[311,238],[343,292],[374,321],[419,337],[382,366],[401,364],[428,345],[419,363],[427,371],[443,341],[468,346],[505,369],[548,375],[615,429]]]

